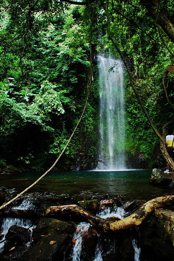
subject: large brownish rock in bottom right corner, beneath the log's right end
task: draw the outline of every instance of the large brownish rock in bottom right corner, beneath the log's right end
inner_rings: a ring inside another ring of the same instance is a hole
[[[168,260],[174,257],[174,211],[155,209],[147,223],[141,227],[142,260]]]

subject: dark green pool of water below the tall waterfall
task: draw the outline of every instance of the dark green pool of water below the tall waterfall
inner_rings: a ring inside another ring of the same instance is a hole
[[[74,195],[80,191],[99,192],[101,195],[131,195],[150,199],[173,193],[172,187],[153,186],[149,183],[152,170],[50,172],[28,192],[53,192]],[[15,188],[17,192],[30,186],[43,173],[1,174],[0,186]]]

